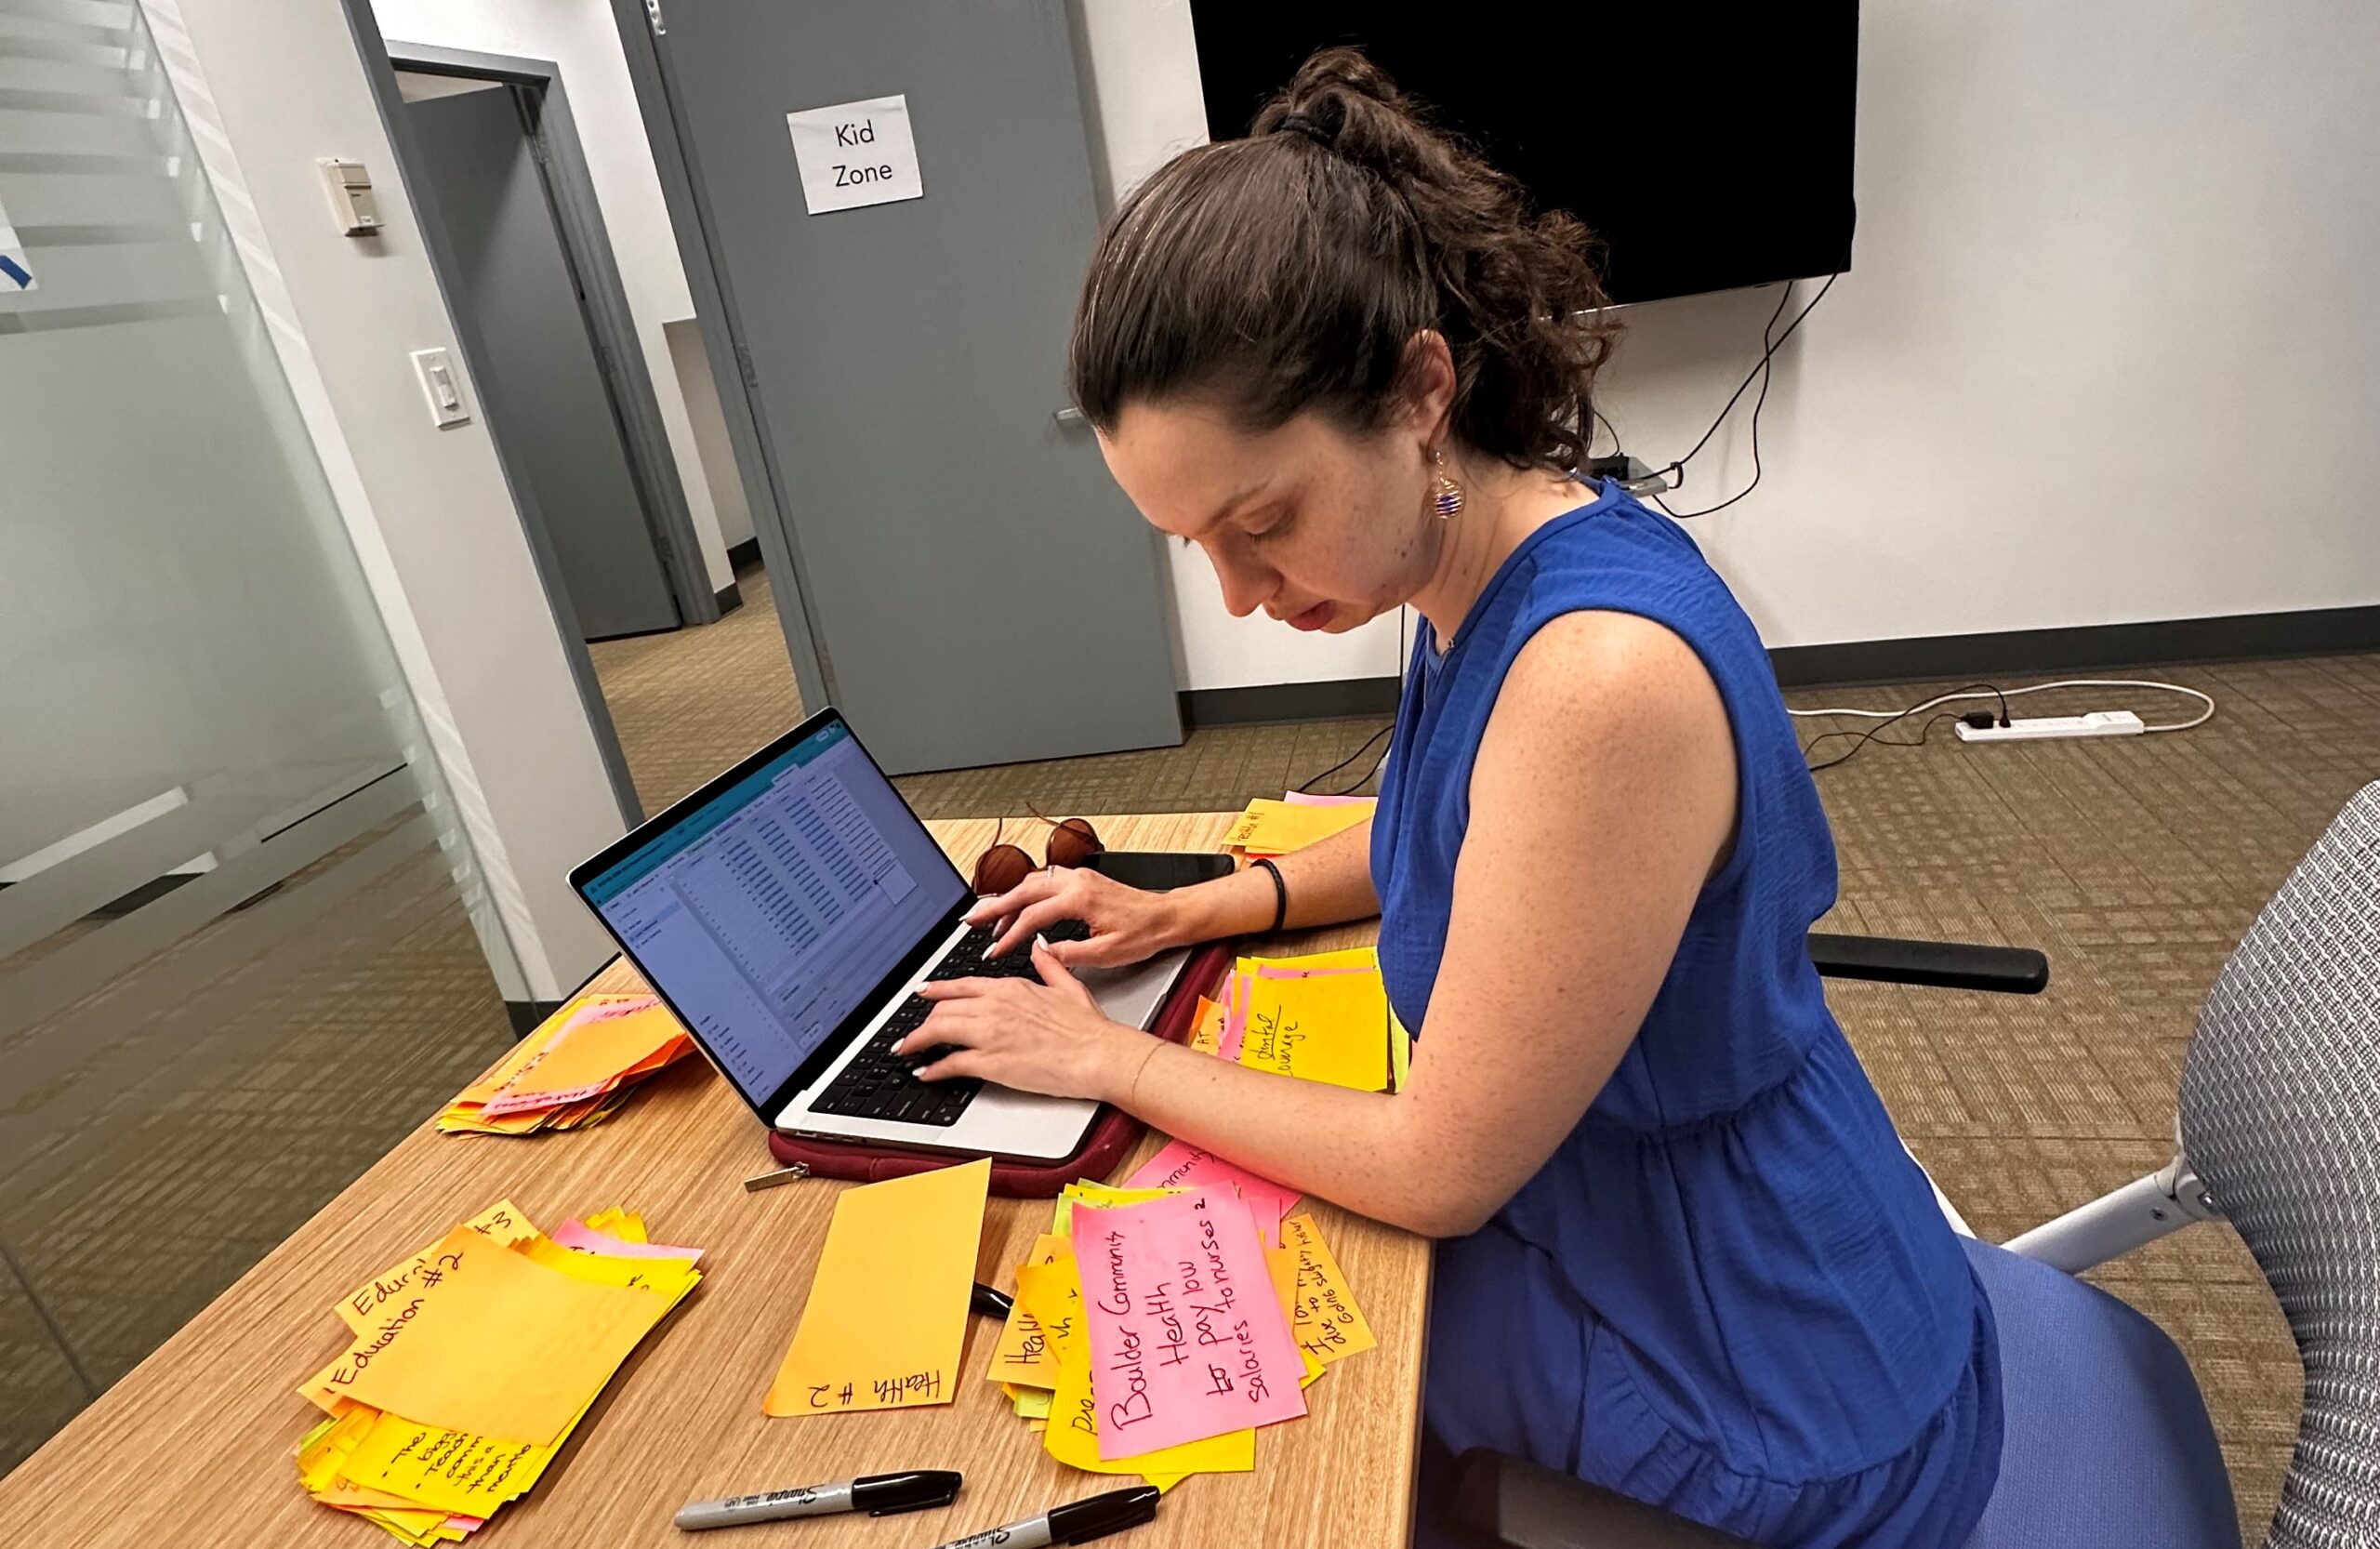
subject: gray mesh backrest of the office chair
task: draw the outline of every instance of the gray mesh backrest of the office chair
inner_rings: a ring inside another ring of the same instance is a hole
[[[2182,1154],[2306,1361],[2266,1544],[2380,1544],[2380,783],[2299,861],[2206,997]]]

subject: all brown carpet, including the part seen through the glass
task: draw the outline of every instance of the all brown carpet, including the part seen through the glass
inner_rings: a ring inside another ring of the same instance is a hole
[[[802,714],[766,576],[747,573],[743,588],[745,607],[716,626],[595,647],[650,811]],[[2049,954],[2052,987],[2033,999],[1833,987],[1911,1149],[1985,1237],[2009,1237],[2168,1159],[2173,1087],[2199,997],[2323,823],[2380,776],[2380,657],[2144,676],[2204,688],[2221,711],[2190,733],[2111,742],[1968,747],[1935,728],[1928,745],[1868,745],[1818,776],[1842,859],[1830,926]],[[1923,692],[1795,702],[1899,707]],[[2187,714],[2168,700],[2094,690],[2063,702],[2042,695],[2030,709],[2128,704],[2152,723]],[[1380,719],[1204,728],[1169,750],[947,771],[902,788],[926,816],[1235,809],[1357,754],[1378,728]],[[1326,788],[1354,785],[1371,757]],[[0,1275],[0,1468],[497,1047],[502,1009],[452,899],[428,880],[412,888],[407,873],[407,888],[383,902],[388,918],[355,928],[352,949],[326,952],[324,983],[305,995],[255,1006],[226,999],[221,1026],[262,1030],[243,1033],[236,1059],[217,1061],[221,1080],[176,1066],[181,1087],[124,1123],[79,1128],[74,1154],[57,1152],[74,1168],[60,1161],[57,1178],[12,1194],[0,1247],[38,1242],[43,1252],[38,1263],[5,1268],[31,1275],[52,1306],[26,1302]],[[357,1006],[402,1016],[340,1021]],[[190,1002],[193,1014],[202,1009]],[[324,1097],[333,1071],[336,1104]],[[214,1090],[221,1102],[207,1097]],[[248,1111],[274,1123],[250,1123]],[[174,1123],[190,1133],[167,1133]],[[293,1166],[293,1125],[338,1144],[307,1149]],[[93,1178],[112,1183],[81,1187]],[[62,1225],[43,1237],[36,1216],[81,1223],[81,1235]],[[162,1223],[200,1218],[214,1223],[212,1242],[238,1252],[205,1266],[167,1254],[157,1268],[174,1273],[102,1285],[90,1271],[121,1256],[79,1247],[86,1237],[181,1242]],[[2299,1392],[2287,1328],[2256,1266],[2228,1228],[2202,1225],[2092,1278],[2190,1354],[2256,1542],[2287,1466]]]

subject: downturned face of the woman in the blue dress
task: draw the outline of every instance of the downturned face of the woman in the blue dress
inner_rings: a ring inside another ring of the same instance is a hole
[[[1409,600],[1438,564],[1430,462],[1409,424],[1352,435],[1319,414],[1250,433],[1197,400],[1130,402],[1100,438],[1140,514],[1214,564],[1235,619],[1259,607],[1345,633]]]

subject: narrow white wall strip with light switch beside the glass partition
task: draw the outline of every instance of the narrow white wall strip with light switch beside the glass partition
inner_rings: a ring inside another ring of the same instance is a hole
[[[478,421],[433,428],[414,383],[409,350],[462,350],[347,19],[307,0],[148,12],[526,990],[557,997],[609,957],[564,876],[621,814],[495,445]],[[381,236],[331,224],[326,155],[371,169]]]

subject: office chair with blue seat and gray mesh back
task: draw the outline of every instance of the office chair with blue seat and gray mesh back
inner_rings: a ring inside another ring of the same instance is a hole
[[[1906,945],[1902,945],[1906,947]],[[1821,937],[1811,959],[1830,971]],[[1866,978],[1894,947],[1847,947]],[[1990,949],[1971,987],[2004,987]],[[1904,954],[1906,957],[1906,954]],[[2023,987],[2023,985],[2016,985]],[[2033,987],[2040,987],[2037,983]],[[2237,1549],[2206,1401],[2180,1349],[2073,1273],[2194,1221],[2230,1221],[2306,1368],[2266,1549],[2380,1544],[2380,783],[2330,823],[2199,1011],[2173,1161],[2006,1247],[1966,1242],[2002,1340],[1999,1485],[1966,1549]],[[1473,1449],[1440,1525],[1509,1549],[1726,1549],[1745,1539],[1566,1473]]]

